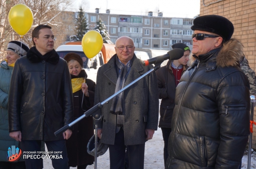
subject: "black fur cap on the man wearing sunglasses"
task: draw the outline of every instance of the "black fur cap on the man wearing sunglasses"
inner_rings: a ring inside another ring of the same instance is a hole
[[[228,41],[234,32],[234,26],[227,18],[218,15],[199,16],[194,19],[191,29],[208,31],[220,35],[224,41]]]

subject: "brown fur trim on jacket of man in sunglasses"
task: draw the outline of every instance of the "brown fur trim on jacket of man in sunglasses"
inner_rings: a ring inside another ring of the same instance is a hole
[[[216,56],[216,65],[219,67],[239,66],[240,62],[244,59],[243,47],[244,46],[238,39],[230,39],[223,44],[218,52]],[[206,55],[211,54],[212,51],[208,52]],[[190,65],[192,65],[197,58],[198,57],[195,55],[190,55]]]

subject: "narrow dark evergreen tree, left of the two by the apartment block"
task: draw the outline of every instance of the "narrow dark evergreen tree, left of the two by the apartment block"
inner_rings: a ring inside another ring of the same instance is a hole
[[[79,8],[79,12],[76,18],[76,40],[82,41],[84,34],[90,30],[88,27],[88,21],[85,18],[85,12],[82,6]]]

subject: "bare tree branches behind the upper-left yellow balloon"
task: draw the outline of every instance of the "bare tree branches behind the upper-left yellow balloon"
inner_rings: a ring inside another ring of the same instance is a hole
[[[10,8],[16,4],[25,4],[32,10],[34,16],[30,31],[22,39],[8,22]],[[66,34],[70,31],[69,27],[74,25],[75,20],[74,12],[65,11],[71,4],[71,0],[0,0],[0,61],[5,58],[3,53],[11,40],[22,40],[32,47],[32,30],[40,24],[52,26],[54,35],[58,37],[55,46],[64,43]]]

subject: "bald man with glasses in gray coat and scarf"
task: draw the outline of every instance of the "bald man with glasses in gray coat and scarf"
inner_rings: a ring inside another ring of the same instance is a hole
[[[134,54],[134,42],[122,36],[116,40],[116,54],[97,74],[95,104],[112,96],[124,86],[148,72]],[[98,137],[109,145],[110,169],[124,169],[125,149],[129,152],[129,168],[144,168],[146,140],[153,137],[158,125],[158,86],[155,72],[136,82],[101,111]]]

